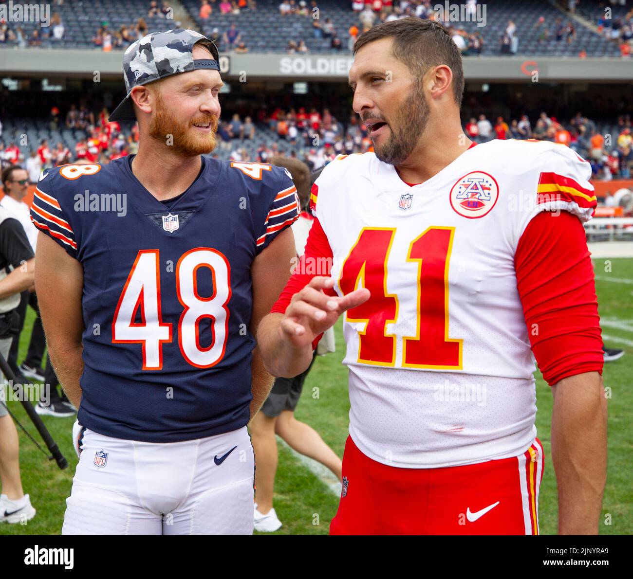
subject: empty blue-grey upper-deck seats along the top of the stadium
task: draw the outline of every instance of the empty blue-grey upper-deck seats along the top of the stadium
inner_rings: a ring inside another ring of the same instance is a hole
[[[203,34],[211,35],[214,28],[218,28],[220,36],[235,22],[241,32],[242,40],[249,51],[254,53],[285,53],[289,40],[304,40],[310,53],[348,53],[348,30],[354,23],[358,23],[358,15],[351,11],[348,0],[320,0],[320,20],[332,18],[336,34],[342,40],[341,50],[332,48],[329,39],[316,39],[313,35],[312,18],[310,16],[279,14],[279,0],[260,0],[254,11],[242,9],[239,15],[220,14],[214,11],[210,18],[199,18],[199,0],[181,0],[192,20]],[[61,6],[53,4],[51,11],[59,12],[65,26],[63,40],[42,40],[42,48],[62,47],[80,49],[100,49],[92,42],[92,37],[104,22],[108,28],[116,32],[122,25],[135,23],[138,18],[144,18],[148,30],[165,30],[173,27],[173,20],[166,20],[158,16],[148,17],[147,1],[139,0],[66,0]],[[618,43],[606,39],[579,22],[573,22],[576,39],[567,43],[565,39],[556,41],[555,20],[561,18],[567,23],[569,16],[560,9],[546,2],[523,2],[520,0],[498,0],[494,4],[487,3],[486,26],[477,27],[477,23],[455,23],[468,34],[479,31],[484,39],[483,56],[497,55],[500,52],[499,39],[503,34],[508,20],[517,25],[518,54],[534,56],[577,56],[581,50],[587,56],[619,56]],[[585,8],[583,6],[583,8]],[[630,6],[613,6],[613,18],[624,16]],[[587,7],[591,13],[591,20],[596,20],[601,8]],[[535,28],[539,17],[544,17],[542,27],[548,28],[549,39],[539,42],[541,29]],[[39,24],[24,23],[23,29],[29,35]],[[10,43],[0,44],[0,49],[11,47]],[[125,48],[125,46],[123,46]],[[220,47],[222,50],[222,47]]]

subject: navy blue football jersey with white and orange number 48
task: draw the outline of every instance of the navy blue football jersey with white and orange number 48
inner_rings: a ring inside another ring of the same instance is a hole
[[[158,201],[132,157],[65,165],[37,184],[31,217],[84,268],[79,422],[103,435],[176,442],[246,425],[251,264],[298,217],[289,173],[202,158]]]

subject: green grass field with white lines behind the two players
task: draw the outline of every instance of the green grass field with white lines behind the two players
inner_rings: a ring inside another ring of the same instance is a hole
[[[601,524],[603,535],[633,533],[632,485],[632,408],[633,389],[633,259],[595,260],[599,312],[603,320],[605,344],[624,348],[627,355],[606,364],[605,386],[611,390],[609,401],[608,480],[603,513],[610,514],[610,525]],[[21,358],[27,348],[32,318],[22,334]],[[310,424],[339,456],[348,433],[349,399],[347,370],[341,364],[343,346],[341,322],[337,324],[335,354],[316,360],[304,386],[296,416]],[[318,389],[318,390],[315,390]],[[539,375],[537,379],[536,425],[546,453],[545,474],[541,486],[539,518],[541,533],[556,533],[556,479],[550,458],[550,420],[552,395]],[[37,439],[37,433],[18,402],[9,408]],[[72,418],[43,417],[44,423],[68,459],[68,469],[60,471],[47,461],[34,444],[20,432],[20,461],[25,492],[30,493],[37,516],[26,526],[0,525],[3,534],[59,534],[65,499],[70,495],[72,476],[77,464],[71,443]],[[275,535],[324,535],[336,512],[337,497],[316,475],[280,445],[279,470],[275,487],[275,509],[284,526]]]

